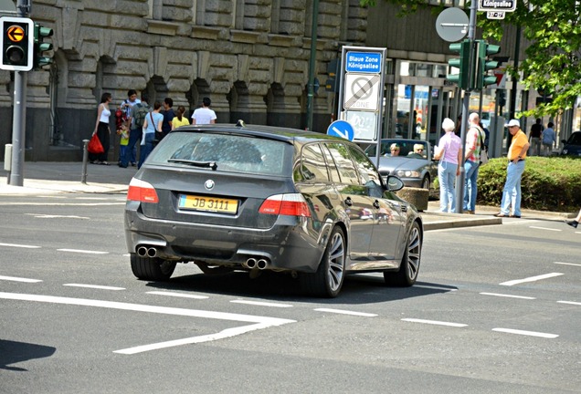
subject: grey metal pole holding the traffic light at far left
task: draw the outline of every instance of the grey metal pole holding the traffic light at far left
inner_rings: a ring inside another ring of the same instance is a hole
[[[18,0],[16,12],[19,17],[26,17],[31,0]],[[32,34],[32,32],[28,32]],[[12,121],[12,161],[8,184],[24,186],[24,152],[26,130],[26,71],[14,72],[14,111]]]

